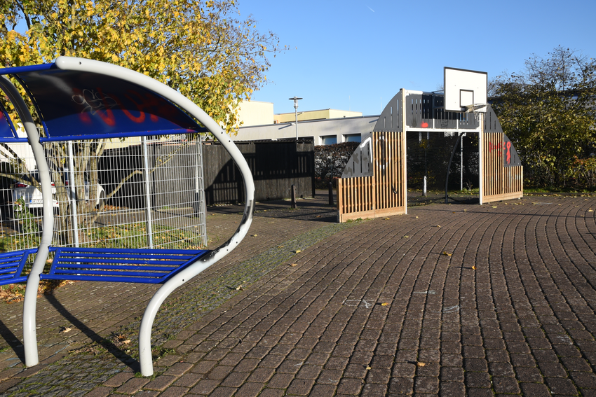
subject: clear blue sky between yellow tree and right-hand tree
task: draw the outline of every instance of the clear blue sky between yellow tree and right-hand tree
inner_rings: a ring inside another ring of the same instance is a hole
[[[271,57],[252,99],[275,113],[381,113],[400,88],[437,90],[443,67],[520,71],[558,45],[596,57],[596,0],[239,0],[241,17],[292,50]],[[297,47],[297,49],[293,49]]]

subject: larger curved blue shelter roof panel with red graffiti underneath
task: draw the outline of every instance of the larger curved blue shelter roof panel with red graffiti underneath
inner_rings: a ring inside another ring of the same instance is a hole
[[[120,78],[53,64],[0,69],[32,98],[46,137],[41,141],[207,132],[156,92]]]

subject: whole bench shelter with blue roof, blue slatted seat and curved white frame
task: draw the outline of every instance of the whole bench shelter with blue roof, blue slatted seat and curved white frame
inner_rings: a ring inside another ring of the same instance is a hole
[[[19,81],[31,99],[43,125],[40,136],[29,108],[15,85]],[[36,340],[36,297],[41,279],[137,282],[162,284],[149,301],[139,331],[142,375],[153,375],[151,326],[165,298],[197,274],[232,251],[247,235],[254,210],[255,184],[242,153],[230,137],[202,109],[163,83],[148,76],[93,60],[58,57],[54,63],[0,69],[0,90],[11,101],[27,132],[18,137],[0,105],[0,141],[28,141],[39,172],[43,218],[37,249],[0,254],[0,284],[27,280],[23,307],[25,364],[39,362]],[[74,101],[83,90],[100,92],[112,102],[91,109]],[[244,216],[232,237],[212,251],[165,249],[93,249],[52,246],[53,197],[46,154],[42,143],[81,139],[118,139],[165,134],[210,132],[231,155],[245,185]],[[49,271],[44,272],[52,252]],[[27,257],[36,253],[32,269],[24,275]]]

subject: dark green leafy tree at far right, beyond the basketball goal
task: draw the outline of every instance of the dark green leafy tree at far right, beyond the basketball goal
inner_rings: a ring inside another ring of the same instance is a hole
[[[595,60],[558,46],[496,79],[492,106],[530,186],[576,187],[578,161],[596,155],[595,71]]]

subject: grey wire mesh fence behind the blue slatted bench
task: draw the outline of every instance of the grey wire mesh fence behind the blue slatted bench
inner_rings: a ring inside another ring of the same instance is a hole
[[[54,245],[207,245],[199,138],[69,141],[47,143],[45,148],[53,179]],[[16,164],[10,155],[4,157],[6,167]],[[33,181],[35,162],[26,148],[18,158],[24,162],[22,169],[12,166],[3,174],[1,251],[39,244],[41,191]]]

